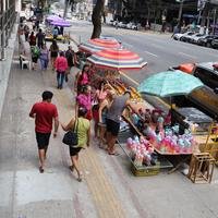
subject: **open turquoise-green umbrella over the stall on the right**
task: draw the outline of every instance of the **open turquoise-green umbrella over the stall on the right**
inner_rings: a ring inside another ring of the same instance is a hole
[[[195,76],[182,71],[166,71],[146,78],[140,84],[140,93],[160,97],[187,95],[204,84]]]

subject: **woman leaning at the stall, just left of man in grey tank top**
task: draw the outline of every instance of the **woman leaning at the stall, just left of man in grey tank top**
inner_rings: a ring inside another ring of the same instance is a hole
[[[108,113],[108,109],[112,104],[114,93],[112,90],[107,92],[106,98],[100,101],[99,109],[98,109],[98,126],[99,126],[99,147],[105,148],[106,144],[106,118]]]

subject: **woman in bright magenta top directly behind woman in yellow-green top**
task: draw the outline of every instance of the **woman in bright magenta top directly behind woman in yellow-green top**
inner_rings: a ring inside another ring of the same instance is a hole
[[[92,87],[86,85],[83,92],[76,97],[75,114],[77,114],[78,108],[85,108],[87,110],[86,119],[92,120]]]

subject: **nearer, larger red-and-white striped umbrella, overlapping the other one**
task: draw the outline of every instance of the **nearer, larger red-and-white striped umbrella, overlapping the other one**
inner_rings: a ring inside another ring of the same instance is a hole
[[[147,62],[135,52],[128,49],[106,49],[94,53],[87,60],[98,68],[116,70],[142,69]]]

